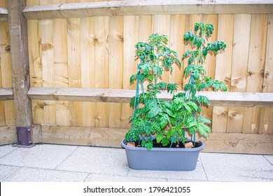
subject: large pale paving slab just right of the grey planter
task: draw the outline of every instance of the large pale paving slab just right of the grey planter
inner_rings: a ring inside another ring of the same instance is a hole
[[[273,166],[262,155],[200,153],[209,181],[273,181]]]

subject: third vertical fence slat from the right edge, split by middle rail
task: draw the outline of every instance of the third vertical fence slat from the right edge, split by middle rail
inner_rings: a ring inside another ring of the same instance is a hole
[[[235,31],[232,55],[231,91],[246,91],[246,71],[251,27],[251,15],[235,14]],[[244,50],[242,50],[244,48]],[[241,132],[244,108],[230,107],[227,132]]]

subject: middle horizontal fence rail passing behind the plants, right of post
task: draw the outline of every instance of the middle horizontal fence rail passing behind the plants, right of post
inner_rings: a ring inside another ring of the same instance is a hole
[[[141,91],[140,91],[141,92]],[[77,101],[77,102],[111,102],[128,103],[134,97],[135,90],[106,88],[58,88],[31,87],[28,95],[31,99]],[[272,92],[197,92],[211,100],[210,106],[247,106],[272,107]],[[172,94],[163,91],[159,98],[172,99]]]

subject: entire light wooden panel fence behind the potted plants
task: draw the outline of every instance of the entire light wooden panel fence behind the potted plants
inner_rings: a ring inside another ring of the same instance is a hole
[[[203,109],[212,121],[204,151],[273,154],[273,1],[225,2],[27,0],[33,142],[120,147],[132,114],[135,43],[166,34],[181,59],[183,34],[204,22],[214,25],[210,41],[228,45],[204,65],[228,86],[202,92],[212,100]],[[16,142],[19,118],[7,7],[0,2],[0,144]],[[164,79],[181,90],[182,70]]]

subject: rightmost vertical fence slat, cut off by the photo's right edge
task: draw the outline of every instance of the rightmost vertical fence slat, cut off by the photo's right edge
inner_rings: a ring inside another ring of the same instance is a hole
[[[267,29],[267,50],[265,54],[265,74],[262,92],[273,92],[273,15],[269,14]],[[273,134],[273,109],[260,109],[259,134]]]

